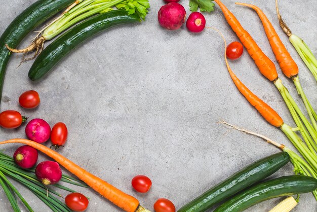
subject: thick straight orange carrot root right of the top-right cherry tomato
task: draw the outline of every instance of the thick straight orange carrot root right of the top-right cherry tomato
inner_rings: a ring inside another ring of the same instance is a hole
[[[248,53],[258,66],[262,75],[264,75],[270,81],[278,79],[278,73],[274,63],[262,52],[260,47],[256,44],[249,32],[246,31],[240,22],[234,17],[234,15],[224,6],[219,0],[215,0],[222,10],[225,19],[231,26],[232,30],[236,33],[241,43],[246,47]]]

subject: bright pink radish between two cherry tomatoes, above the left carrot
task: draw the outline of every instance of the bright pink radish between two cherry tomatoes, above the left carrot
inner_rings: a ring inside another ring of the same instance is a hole
[[[33,119],[25,127],[26,136],[37,143],[44,143],[50,138],[51,127],[43,119]]]

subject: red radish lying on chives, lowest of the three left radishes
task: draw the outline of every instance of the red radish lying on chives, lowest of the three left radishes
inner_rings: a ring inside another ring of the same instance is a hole
[[[35,168],[36,178],[44,185],[54,185],[62,178],[62,170],[54,161],[43,161]]]

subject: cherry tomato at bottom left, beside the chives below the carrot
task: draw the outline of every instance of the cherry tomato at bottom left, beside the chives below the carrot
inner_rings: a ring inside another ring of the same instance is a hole
[[[89,201],[81,193],[71,193],[65,197],[67,207],[74,211],[84,211],[87,209]]]

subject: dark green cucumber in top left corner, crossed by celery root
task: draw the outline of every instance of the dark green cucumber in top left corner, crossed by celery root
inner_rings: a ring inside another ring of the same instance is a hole
[[[10,51],[5,47],[17,48],[23,38],[36,26],[73,3],[74,0],[39,0],[16,17],[0,37],[0,101]]]

